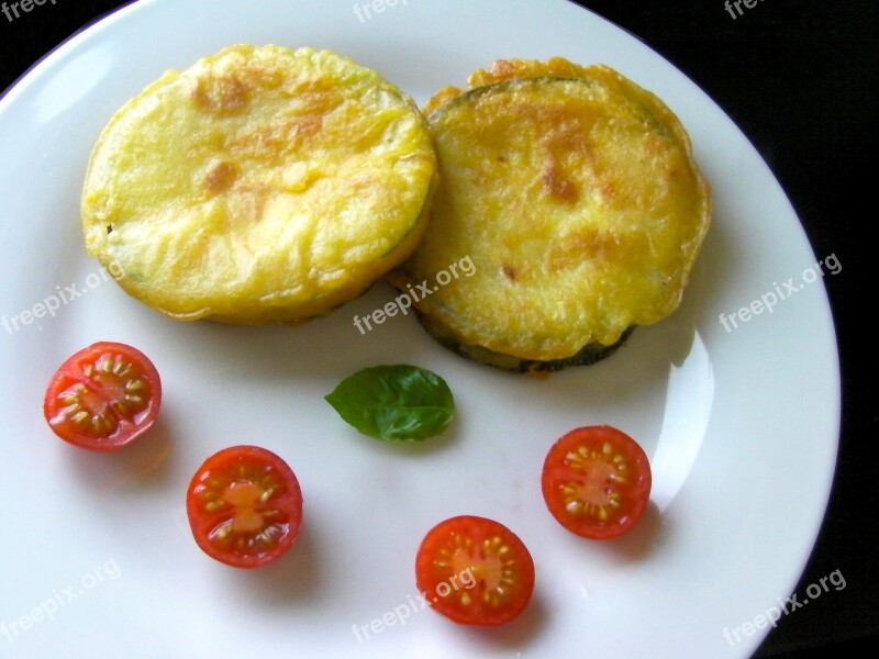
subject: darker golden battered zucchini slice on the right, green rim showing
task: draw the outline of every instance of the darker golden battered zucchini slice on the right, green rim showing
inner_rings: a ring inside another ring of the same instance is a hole
[[[709,186],[678,119],[604,67],[501,62],[425,110],[441,185],[389,280],[431,291],[422,324],[455,351],[549,371],[612,354],[674,312],[708,231]],[[472,261],[471,277],[449,277]]]

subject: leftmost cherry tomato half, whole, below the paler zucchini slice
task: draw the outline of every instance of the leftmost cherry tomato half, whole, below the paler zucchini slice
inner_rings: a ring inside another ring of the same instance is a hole
[[[91,450],[113,450],[143,435],[160,405],[162,381],[146,355],[125,344],[100,342],[55,371],[43,414],[62,439]]]

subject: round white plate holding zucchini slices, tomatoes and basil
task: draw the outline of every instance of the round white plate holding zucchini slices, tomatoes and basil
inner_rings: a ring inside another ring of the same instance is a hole
[[[458,358],[412,316],[361,336],[353,316],[390,299],[383,284],[299,328],[180,324],[127,298],[84,253],[89,152],[147,82],[234,42],[332,48],[420,102],[503,56],[617,68],[679,114],[713,185],[714,224],[681,309],[612,358],[536,381]],[[747,139],[620,29],[563,0],[388,0],[359,19],[352,0],[144,1],[66,43],[3,99],[0,148],[0,657],[745,657],[766,629],[743,625],[794,588],[839,422],[827,300],[821,278],[803,276],[815,258]],[[720,314],[790,278],[795,295],[724,330]],[[71,284],[84,294],[23,324],[22,311]],[[41,414],[53,370],[98,339],[140,347],[165,382],[158,428],[114,455],[63,444]],[[323,395],[380,362],[446,378],[458,402],[446,437],[387,446],[335,415]],[[538,489],[549,444],[591,423],[630,432],[655,469],[649,515],[611,544],[567,534]],[[293,550],[255,572],[203,556],[183,514],[196,467],[240,443],[283,456],[305,496]],[[420,611],[358,639],[355,626],[415,595],[427,528],[463,513],[503,522],[531,548],[526,614],[474,630]]]

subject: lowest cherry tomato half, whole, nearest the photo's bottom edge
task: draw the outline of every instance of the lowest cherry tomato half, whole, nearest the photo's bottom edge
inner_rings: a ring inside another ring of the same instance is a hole
[[[534,561],[503,524],[461,515],[427,532],[415,558],[424,601],[461,625],[493,626],[521,614],[534,592]]]

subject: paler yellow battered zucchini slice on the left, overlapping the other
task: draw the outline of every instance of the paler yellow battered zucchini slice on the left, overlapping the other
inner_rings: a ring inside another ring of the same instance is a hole
[[[409,256],[435,169],[423,115],[376,71],[234,45],[111,119],[85,179],[85,243],[175,319],[296,323]]]

